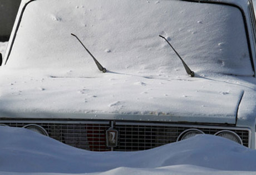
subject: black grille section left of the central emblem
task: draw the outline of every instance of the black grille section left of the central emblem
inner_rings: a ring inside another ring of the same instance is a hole
[[[8,126],[23,127],[27,123],[4,123]],[[48,135],[67,145],[90,151],[110,151],[106,146],[108,124],[35,123],[42,126]]]

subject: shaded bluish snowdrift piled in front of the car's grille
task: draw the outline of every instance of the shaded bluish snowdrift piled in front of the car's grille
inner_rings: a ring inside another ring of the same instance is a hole
[[[0,132],[1,174],[252,174],[245,171],[256,171],[255,150],[210,135],[198,135],[147,151],[91,152],[25,128],[0,126]]]

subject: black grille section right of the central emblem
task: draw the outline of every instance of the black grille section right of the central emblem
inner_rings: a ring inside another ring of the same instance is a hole
[[[119,131],[119,145],[115,151],[140,151],[176,142],[181,132],[191,127],[155,126],[155,125],[116,125]],[[198,128],[206,134],[224,130],[224,128]],[[248,147],[249,132],[243,130],[230,130],[236,132]]]

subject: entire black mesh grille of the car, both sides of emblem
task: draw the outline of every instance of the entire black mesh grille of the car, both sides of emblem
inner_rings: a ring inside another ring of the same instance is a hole
[[[67,145],[91,151],[111,151],[106,146],[106,130],[111,127],[109,121],[83,121],[83,122],[2,122],[8,126],[23,127],[28,123],[35,123],[42,126],[48,135]],[[189,128],[197,128],[206,134],[227,130],[227,127],[214,126],[189,126],[166,123],[147,123],[147,122],[116,122],[114,128],[119,131],[118,145],[114,151],[139,151],[155,148],[167,143],[176,142],[181,132]],[[229,128],[230,131],[237,133],[242,138],[243,145],[249,146],[249,131]]]

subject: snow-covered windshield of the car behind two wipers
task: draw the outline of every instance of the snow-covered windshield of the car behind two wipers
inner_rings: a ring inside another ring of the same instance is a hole
[[[196,74],[254,74],[239,9],[185,1],[33,1],[7,67],[50,76],[101,74],[71,33],[112,73],[185,75],[163,35]]]

